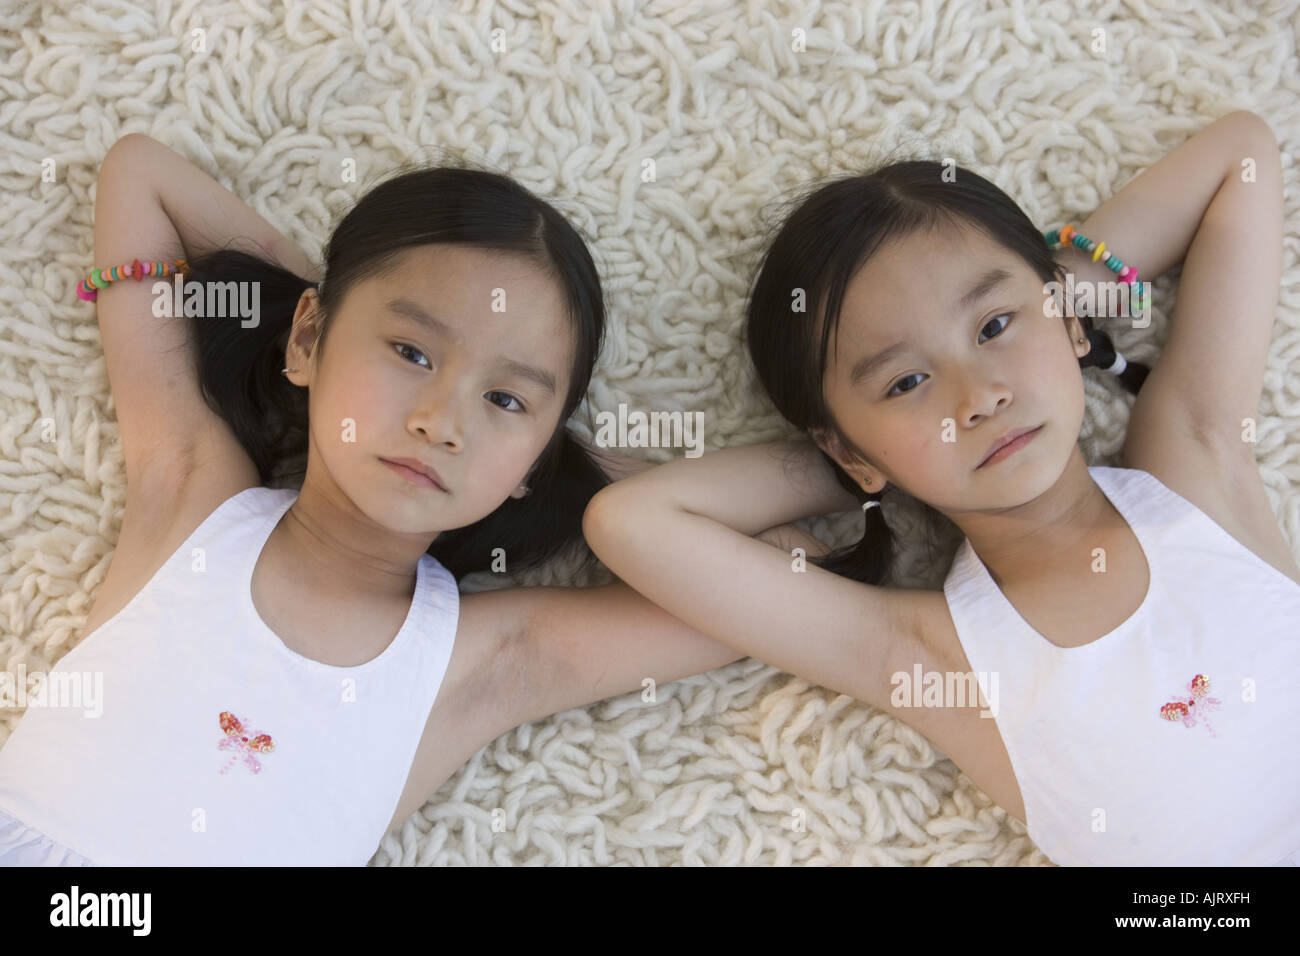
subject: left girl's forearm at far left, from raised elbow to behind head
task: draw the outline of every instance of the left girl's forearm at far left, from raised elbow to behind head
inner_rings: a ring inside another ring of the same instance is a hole
[[[142,133],[124,137],[113,148],[129,151],[131,168],[153,187],[187,259],[237,248],[273,259],[303,278],[320,280],[316,265],[283,233],[190,160]]]

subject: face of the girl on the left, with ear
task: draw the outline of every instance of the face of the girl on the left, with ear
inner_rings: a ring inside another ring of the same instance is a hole
[[[303,294],[287,351],[299,369],[291,381],[309,388],[308,481],[318,462],[325,488],[402,533],[460,528],[524,494],[573,355],[562,290],[534,263],[411,248],[391,273],[348,291],[324,352],[313,347],[316,304],[315,290]],[[381,460],[400,458],[432,467],[443,488]]]

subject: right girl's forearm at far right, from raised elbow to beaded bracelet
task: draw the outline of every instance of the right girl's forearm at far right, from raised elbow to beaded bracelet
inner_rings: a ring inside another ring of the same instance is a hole
[[[1079,225],[1089,239],[1105,241],[1124,263],[1149,282],[1183,261],[1201,217],[1223,177],[1240,166],[1238,143],[1243,124],[1258,122],[1251,113],[1228,113],[1143,170]],[[1115,274],[1092,254],[1075,246],[1057,250],[1057,261],[1075,282],[1115,282]]]

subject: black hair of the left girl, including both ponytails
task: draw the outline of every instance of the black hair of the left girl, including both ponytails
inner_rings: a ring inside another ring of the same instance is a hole
[[[325,248],[324,278],[306,280],[247,252],[218,250],[188,259],[187,282],[257,282],[259,321],[190,317],[204,399],[234,431],[264,485],[300,485],[308,447],[308,395],[283,377],[285,347],[303,291],[317,289],[316,349],[348,290],[384,274],[406,250],[465,245],[533,259],[563,289],[573,339],[564,406],[546,449],[525,480],[530,493],[507,498],[464,528],[438,535],[429,554],[452,575],[529,570],[582,541],[582,512],[608,484],[597,459],[566,423],[581,403],[604,334],[604,300],[592,254],[554,207],[510,177],[455,166],[415,168],[378,183],[348,211]],[[498,551],[497,549],[500,549]],[[586,567],[594,555],[586,550]]]

